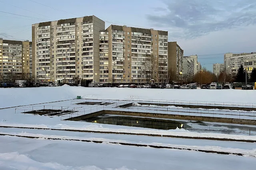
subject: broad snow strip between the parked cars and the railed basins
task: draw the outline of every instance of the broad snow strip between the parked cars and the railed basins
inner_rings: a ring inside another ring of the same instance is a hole
[[[74,99],[76,96],[92,99],[156,99],[219,102],[255,102],[256,90],[192,90],[146,88],[86,88],[58,86],[39,88],[0,88],[0,108]]]

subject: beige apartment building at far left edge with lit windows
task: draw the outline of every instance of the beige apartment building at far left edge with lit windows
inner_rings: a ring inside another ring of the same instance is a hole
[[[32,45],[27,41],[0,38],[0,74],[2,78],[32,79]]]

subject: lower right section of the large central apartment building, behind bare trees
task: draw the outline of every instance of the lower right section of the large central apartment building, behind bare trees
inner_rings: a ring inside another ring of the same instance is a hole
[[[158,82],[167,74],[168,32],[110,25],[109,80],[113,83]]]

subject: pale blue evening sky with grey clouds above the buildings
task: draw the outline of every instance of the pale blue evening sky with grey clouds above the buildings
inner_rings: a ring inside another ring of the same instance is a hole
[[[168,31],[169,41],[209,70],[223,63],[224,53],[256,51],[256,0],[0,0],[0,6],[5,39],[31,40],[32,23],[95,15],[106,27]]]

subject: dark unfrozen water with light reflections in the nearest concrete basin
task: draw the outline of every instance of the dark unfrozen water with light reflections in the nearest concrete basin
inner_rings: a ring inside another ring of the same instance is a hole
[[[168,120],[168,119],[153,119],[146,117],[133,117],[133,116],[121,116],[121,115],[99,115],[89,119],[84,119],[82,121],[92,122],[92,123],[102,123],[111,125],[122,125],[122,126],[132,126],[132,127],[144,127],[150,129],[176,129],[188,127],[183,125],[178,121]]]

